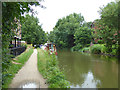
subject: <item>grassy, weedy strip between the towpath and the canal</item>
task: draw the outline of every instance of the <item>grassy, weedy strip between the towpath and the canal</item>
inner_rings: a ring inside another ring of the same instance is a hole
[[[67,88],[70,86],[69,82],[65,80],[63,72],[58,67],[56,56],[49,55],[47,52],[38,50],[38,69],[39,72],[47,79],[49,88]]]

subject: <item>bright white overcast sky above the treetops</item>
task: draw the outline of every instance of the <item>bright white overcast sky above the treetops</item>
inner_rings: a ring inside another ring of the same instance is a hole
[[[41,4],[46,7],[32,6],[35,15],[39,19],[39,24],[45,32],[50,32],[55,27],[58,19],[72,13],[81,13],[86,22],[94,21],[100,18],[98,11],[103,5],[115,0],[44,0]]]

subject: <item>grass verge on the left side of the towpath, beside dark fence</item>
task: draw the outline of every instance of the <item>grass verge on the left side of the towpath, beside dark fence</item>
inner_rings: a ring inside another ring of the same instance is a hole
[[[9,84],[15,77],[15,74],[18,73],[18,71],[22,68],[22,66],[29,59],[32,53],[33,48],[28,47],[25,52],[12,59],[12,63],[9,69],[6,70],[6,72],[2,72],[4,75],[2,76],[4,79],[4,82],[2,82],[3,83],[2,88],[9,88]]]

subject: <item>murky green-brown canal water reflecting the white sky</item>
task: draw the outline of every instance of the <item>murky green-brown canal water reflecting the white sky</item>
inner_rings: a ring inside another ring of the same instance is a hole
[[[71,88],[118,88],[117,58],[64,50],[58,61]]]

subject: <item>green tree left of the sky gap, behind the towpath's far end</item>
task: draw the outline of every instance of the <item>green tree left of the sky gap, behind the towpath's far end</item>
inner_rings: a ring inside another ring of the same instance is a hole
[[[29,44],[42,44],[45,43],[46,34],[38,25],[38,18],[30,15],[26,15],[25,19],[22,21],[22,38]]]

